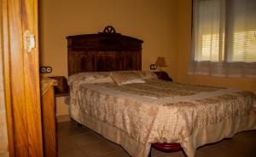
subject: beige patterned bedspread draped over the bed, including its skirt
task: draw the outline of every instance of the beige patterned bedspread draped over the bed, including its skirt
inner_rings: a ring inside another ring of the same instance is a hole
[[[73,119],[136,157],[148,156],[154,142],[179,142],[192,157],[203,144],[256,129],[252,92],[159,79],[122,86],[77,82],[69,109]]]

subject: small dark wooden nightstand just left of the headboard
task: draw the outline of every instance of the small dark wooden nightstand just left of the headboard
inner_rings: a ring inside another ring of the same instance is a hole
[[[53,76],[49,78],[55,79],[57,81],[57,85],[54,86],[55,97],[69,96],[67,78],[65,78],[64,76]]]

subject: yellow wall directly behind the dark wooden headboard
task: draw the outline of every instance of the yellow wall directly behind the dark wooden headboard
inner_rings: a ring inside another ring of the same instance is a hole
[[[142,39],[143,69],[157,56],[163,68],[177,75],[177,1],[174,0],[42,0],[39,1],[40,64],[53,67],[52,76],[67,76],[68,35],[102,32],[108,25],[117,32]],[[56,99],[57,115],[67,114],[64,98]]]

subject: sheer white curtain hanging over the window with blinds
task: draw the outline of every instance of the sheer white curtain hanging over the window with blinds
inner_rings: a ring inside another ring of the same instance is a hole
[[[189,74],[256,78],[256,0],[194,0]]]

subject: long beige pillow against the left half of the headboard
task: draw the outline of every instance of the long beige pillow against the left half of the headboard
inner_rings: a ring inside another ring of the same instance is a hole
[[[109,72],[75,73],[67,78],[67,84],[69,85],[75,81],[82,81],[86,84],[96,84],[113,82],[113,79],[110,78]]]

